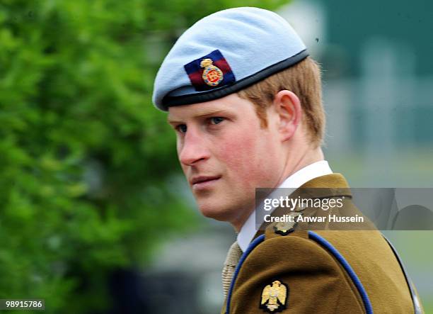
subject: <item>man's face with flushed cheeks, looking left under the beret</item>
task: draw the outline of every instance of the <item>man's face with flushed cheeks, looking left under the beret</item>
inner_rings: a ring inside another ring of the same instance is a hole
[[[203,215],[241,223],[255,206],[255,188],[279,184],[284,154],[268,119],[261,128],[253,104],[236,94],[169,109],[180,165]]]

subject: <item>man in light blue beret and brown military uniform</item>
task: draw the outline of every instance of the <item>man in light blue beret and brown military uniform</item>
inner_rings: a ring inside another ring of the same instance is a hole
[[[321,150],[318,65],[283,18],[237,8],[198,21],[163,61],[153,100],[168,111],[200,211],[238,232],[221,313],[421,313],[378,231],[255,230],[260,187],[327,188],[348,196],[339,215],[357,213]]]

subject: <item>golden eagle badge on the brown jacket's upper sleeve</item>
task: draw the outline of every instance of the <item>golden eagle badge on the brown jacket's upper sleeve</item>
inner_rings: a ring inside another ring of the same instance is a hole
[[[289,287],[279,280],[263,288],[260,308],[267,313],[282,312],[287,308],[287,294]]]

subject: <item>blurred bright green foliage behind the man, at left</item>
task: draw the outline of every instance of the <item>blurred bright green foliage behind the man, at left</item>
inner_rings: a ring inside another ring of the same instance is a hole
[[[193,225],[151,105],[158,65],[202,16],[283,3],[1,1],[0,298],[103,310],[112,269],[145,264],[161,234]]]

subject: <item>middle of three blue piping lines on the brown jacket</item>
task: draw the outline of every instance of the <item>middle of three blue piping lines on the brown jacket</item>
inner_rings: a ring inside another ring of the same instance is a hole
[[[366,314],[373,314],[373,307],[371,306],[369,296],[367,295],[364,286],[362,286],[362,283],[359,280],[357,274],[354,272],[352,267],[350,267],[350,264],[342,256],[342,254],[340,254],[340,252],[338,252],[338,250],[335,249],[335,247],[333,247],[330,242],[325,240],[325,238],[321,237],[317,233],[313,231],[308,231],[308,237],[310,237],[311,240],[318,242],[318,244],[325,247],[325,249],[328,249],[328,251],[333,254],[333,256],[337,259],[337,261],[340,262],[345,271],[347,271],[347,274],[349,274],[350,279],[352,279],[354,285],[357,287],[358,292],[361,295],[362,302],[364,303]]]

